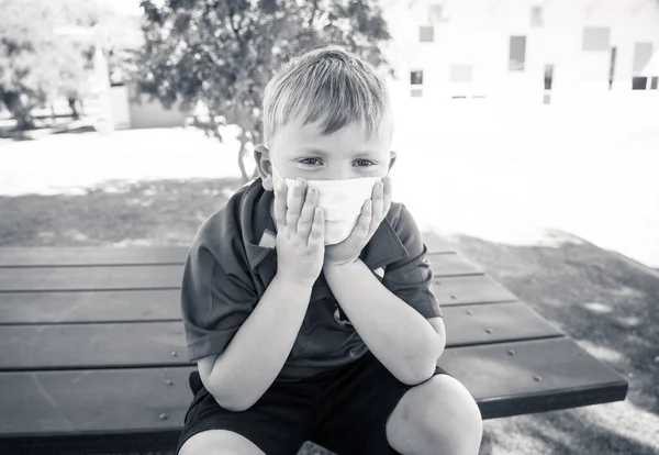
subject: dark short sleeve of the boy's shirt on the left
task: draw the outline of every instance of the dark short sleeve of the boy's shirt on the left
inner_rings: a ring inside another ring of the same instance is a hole
[[[191,362],[222,354],[258,301],[239,257],[231,243],[193,245],[188,253],[181,313]]]

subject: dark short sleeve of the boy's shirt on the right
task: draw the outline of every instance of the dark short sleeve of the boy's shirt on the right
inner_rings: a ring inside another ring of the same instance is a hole
[[[425,258],[427,247],[416,222],[403,204],[394,230],[410,254],[386,267],[382,284],[424,318],[443,317],[433,292],[433,269]]]

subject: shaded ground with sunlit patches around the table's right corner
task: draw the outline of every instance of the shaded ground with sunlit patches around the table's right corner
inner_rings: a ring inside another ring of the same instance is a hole
[[[582,240],[559,247],[445,241],[629,381],[625,402],[487,421],[482,455],[659,453],[656,270]]]

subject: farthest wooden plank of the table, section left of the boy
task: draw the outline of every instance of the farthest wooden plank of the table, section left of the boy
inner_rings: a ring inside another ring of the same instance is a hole
[[[0,267],[185,264],[183,246],[66,246],[2,247]]]

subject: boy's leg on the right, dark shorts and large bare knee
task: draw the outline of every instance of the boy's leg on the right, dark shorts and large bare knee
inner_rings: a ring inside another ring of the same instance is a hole
[[[481,434],[473,398],[442,368],[407,386],[370,352],[328,385],[315,423],[311,440],[338,455],[476,455]]]

